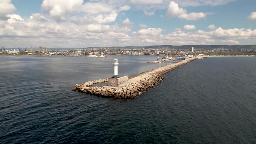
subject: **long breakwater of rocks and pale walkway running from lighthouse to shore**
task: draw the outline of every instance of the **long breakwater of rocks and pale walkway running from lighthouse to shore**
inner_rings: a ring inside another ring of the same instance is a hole
[[[72,90],[106,98],[136,98],[140,92],[148,91],[149,88],[154,88],[155,85],[163,82],[164,78],[162,75],[164,73],[170,72],[171,70],[176,69],[181,65],[187,64],[188,62],[191,62],[195,59],[198,58],[190,58],[182,62],[163,66],[158,69],[153,69],[149,72],[144,72],[132,79],[129,79],[128,83],[119,85],[119,87],[93,87],[95,84],[108,82],[108,79],[100,79],[85,82],[83,84],[76,84]]]

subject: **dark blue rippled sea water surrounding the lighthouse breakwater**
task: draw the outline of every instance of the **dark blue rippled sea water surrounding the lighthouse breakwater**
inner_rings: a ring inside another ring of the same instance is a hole
[[[256,57],[198,59],[135,99],[71,91],[152,56],[0,56],[0,143],[256,143]]]

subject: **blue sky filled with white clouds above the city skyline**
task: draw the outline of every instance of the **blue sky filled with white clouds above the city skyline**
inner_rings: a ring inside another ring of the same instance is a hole
[[[256,0],[0,0],[0,47],[256,44]]]

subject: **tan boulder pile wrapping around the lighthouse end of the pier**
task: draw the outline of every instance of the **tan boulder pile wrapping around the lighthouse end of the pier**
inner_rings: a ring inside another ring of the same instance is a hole
[[[136,98],[138,97],[140,92],[145,92],[149,88],[154,88],[160,82],[164,81],[164,78],[161,75],[150,75],[144,77],[138,82],[128,83],[120,88],[112,88],[112,87],[90,87],[97,83],[107,82],[107,79],[100,79],[96,81],[89,81],[83,84],[76,84],[74,89],[79,92],[84,92],[91,95],[102,96],[106,98]]]

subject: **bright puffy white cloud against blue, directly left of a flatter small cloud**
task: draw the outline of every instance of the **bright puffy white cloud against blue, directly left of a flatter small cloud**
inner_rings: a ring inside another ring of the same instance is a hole
[[[168,18],[176,17],[184,13],[187,13],[186,10],[180,8],[179,5],[173,1],[169,4],[166,12]]]

